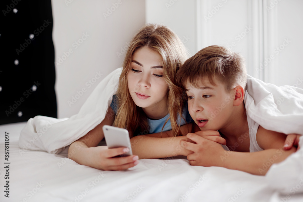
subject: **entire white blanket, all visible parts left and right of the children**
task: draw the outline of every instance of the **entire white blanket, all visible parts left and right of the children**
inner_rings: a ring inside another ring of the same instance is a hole
[[[104,119],[115,94],[119,75],[118,68],[104,78],[83,104],[79,113],[71,118],[56,119],[36,116],[28,120],[19,138],[23,149],[47,151],[58,154],[73,141],[87,134]],[[285,134],[303,134],[303,90],[291,86],[277,87],[248,76],[246,110],[248,116],[268,130]],[[267,173],[271,186],[283,193],[292,193],[291,187],[303,179],[303,140],[301,149],[284,162],[274,164]],[[284,169],[293,165],[293,171]],[[280,173],[289,173],[285,179]],[[303,181],[302,181],[303,183]],[[303,184],[302,184],[303,185]],[[303,189],[297,192],[303,192]]]

